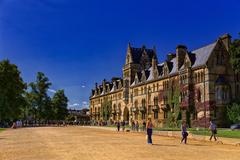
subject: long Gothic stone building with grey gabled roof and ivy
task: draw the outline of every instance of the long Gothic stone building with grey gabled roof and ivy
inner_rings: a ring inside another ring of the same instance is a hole
[[[103,80],[90,96],[93,121],[141,121],[151,118],[163,126],[170,113],[180,113],[192,126],[206,127],[210,119],[224,125],[226,105],[240,98],[240,75],[229,63],[231,37],[188,51],[184,45],[159,63],[155,47],[127,48],[123,77]]]

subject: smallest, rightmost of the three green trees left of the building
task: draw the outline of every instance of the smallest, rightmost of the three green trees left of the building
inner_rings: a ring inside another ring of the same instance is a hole
[[[68,115],[67,104],[68,98],[64,94],[64,90],[58,90],[52,98],[52,106],[55,120],[64,120]]]

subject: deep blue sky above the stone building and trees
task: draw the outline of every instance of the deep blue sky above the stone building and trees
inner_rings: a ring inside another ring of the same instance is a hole
[[[128,42],[189,50],[240,32],[238,0],[0,0],[0,59],[26,82],[38,71],[64,89],[74,108],[88,105],[94,83],[122,75]],[[50,93],[51,94],[51,93]]]

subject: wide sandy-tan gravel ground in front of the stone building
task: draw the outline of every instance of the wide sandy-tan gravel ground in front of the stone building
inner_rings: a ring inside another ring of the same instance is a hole
[[[0,133],[0,160],[239,160],[240,147],[86,127],[46,127]]]

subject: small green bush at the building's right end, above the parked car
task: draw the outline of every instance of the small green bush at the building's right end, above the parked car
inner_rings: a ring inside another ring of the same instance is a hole
[[[233,123],[240,122],[240,104],[232,103],[227,107],[227,116]]]

